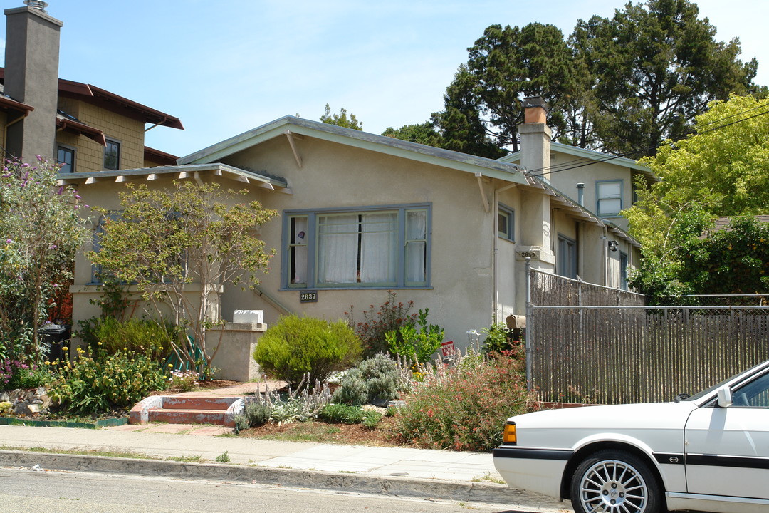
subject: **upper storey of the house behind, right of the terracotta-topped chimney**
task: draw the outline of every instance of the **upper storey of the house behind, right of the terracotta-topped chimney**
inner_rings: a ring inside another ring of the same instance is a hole
[[[500,160],[520,163],[521,152],[511,153]],[[628,219],[622,217],[620,212],[636,202],[638,177],[647,184],[658,180],[651,169],[630,158],[559,142],[551,143],[548,166],[550,185],[623,230],[628,229]],[[532,171],[541,174],[541,170]]]

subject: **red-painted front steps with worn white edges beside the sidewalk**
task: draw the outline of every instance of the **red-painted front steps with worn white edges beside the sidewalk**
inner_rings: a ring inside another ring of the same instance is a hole
[[[213,424],[235,427],[235,415],[244,408],[242,397],[152,395],[131,408],[129,424]]]

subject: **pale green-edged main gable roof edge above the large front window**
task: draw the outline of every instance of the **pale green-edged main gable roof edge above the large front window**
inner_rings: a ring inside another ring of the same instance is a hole
[[[409,160],[439,165],[444,168],[454,168],[478,176],[499,178],[507,182],[527,183],[526,178],[521,173],[521,166],[517,164],[452,152],[443,148],[420,145],[416,142],[402,141],[401,139],[385,137],[384,135],[361,132],[352,128],[329,125],[328,123],[315,122],[291,115],[218,142],[199,152],[182,157],[178,162],[179,164],[220,162],[221,159],[228,155],[241,152],[261,142],[281,136],[291,137],[291,135],[318,138],[341,145],[366,149],[371,152],[408,158]],[[293,144],[291,138],[289,138],[289,142]],[[295,158],[298,159],[298,162],[301,162],[301,158],[298,155],[295,154]]]

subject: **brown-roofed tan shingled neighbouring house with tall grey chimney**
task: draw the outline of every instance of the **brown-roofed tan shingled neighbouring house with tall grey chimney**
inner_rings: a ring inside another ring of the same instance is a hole
[[[6,9],[5,15],[0,127],[6,156],[54,159],[62,173],[175,163],[174,155],[145,147],[145,126],[183,129],[178,118],[95,85],[58,78],[62,22],[34,7]]]

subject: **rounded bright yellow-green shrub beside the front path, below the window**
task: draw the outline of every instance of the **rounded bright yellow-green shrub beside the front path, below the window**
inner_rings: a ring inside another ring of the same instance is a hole
[[[310,385],[332,372],[355,365],[361,341],[344,322],[288,315],[259,339],[254,359],[275,378],[297,385],[308,374]]]

